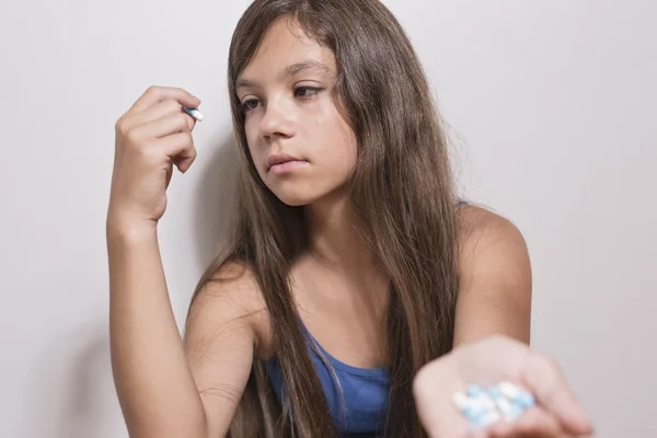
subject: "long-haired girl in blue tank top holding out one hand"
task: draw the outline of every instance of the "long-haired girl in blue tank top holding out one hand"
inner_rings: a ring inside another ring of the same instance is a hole
[[[590,433],[528,346],[523,238],[457,198],[427,80],[381,2],[254,1],[228,82],[237,218],[183,338],[157,226],[173,166],[196,158],[182,107],[200,100],[151,87],[116,123],[111,343],[131,438],[461,437],[453,392],[502,380],[538,405],[482,436]]]

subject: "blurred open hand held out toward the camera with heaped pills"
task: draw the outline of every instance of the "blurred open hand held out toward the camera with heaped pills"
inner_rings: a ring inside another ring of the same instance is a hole
[[[591,425],[546,356],[504,336],[457,347],[417,373],[420,420],[435,438],[564,438]]]

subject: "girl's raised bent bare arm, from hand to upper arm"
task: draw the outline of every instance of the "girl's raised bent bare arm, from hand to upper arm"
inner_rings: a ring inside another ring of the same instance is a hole
[[[244,281],[200,291],[184,344],[160,257],[157,224],[173,165],[186,172],[196,157],[195,120],[182,106],[199,102],[184,90],[153,87],[116,124],[106,222],[110,336],[131,438],[224,435],[251,369],[255,337]]]

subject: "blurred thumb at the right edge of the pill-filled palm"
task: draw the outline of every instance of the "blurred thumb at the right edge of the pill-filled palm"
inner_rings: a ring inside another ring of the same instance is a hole
[[[522,380],[537,402],[551,413],[568,433],[590,435],[592,427],[575,401],[558,367],[545,356],[532,351],[527,358]]]

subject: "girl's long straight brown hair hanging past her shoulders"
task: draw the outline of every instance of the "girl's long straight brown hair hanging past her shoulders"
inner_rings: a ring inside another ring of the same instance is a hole
[[[237,217],[192,302],[226,263],[249,266],[267,306],[287,396],[283,414],[272,414],[276,411],[267,379],[254,360],[232,436],[267,436],[265,430],[280,436],[275,426],[290,427],[291,406],[297,436],[335,436],[288,283],[292,262],[308,250],[302,207],[285,205],[258,176],[235,93],[238,76],[280,19],[293,20],[336,57],[334,99],[357,139],[357,168],[348,185],[355,226],[390,278],[391,390],[384,433],[426,437],[415,413],[412,381],[423,365],[452,346],[456,196],[427,79],[404,30],[379,0],[256,0],[234,31],[228,81],[240,150]],[[246,433],[249,425],[257,430]]]

